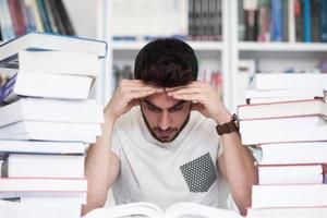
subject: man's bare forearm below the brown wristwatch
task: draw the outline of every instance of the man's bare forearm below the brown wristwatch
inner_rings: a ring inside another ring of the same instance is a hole
[[[237,132],[221,136],[223,146],[225,171],[230,183],[233,198],[244,215],[251,206],[252,185],[257,183],[257,168],[250,149],[241,144]]]

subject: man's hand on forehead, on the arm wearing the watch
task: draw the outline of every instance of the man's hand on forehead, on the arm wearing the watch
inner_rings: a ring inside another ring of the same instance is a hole
[[[196,81],[185,86],[166,88],[165,90],[175,99],[195,101],[192,105],[192,110],[199,111],[219,124],[229,122],[231,119],[231,114],[220,100],[220,96],[207,83]]]

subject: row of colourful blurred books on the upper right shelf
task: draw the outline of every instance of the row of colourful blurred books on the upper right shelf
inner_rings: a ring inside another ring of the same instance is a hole
[[[246,3],[252,2],[252,3]],[[239,38],[252,41],[326,41],[326,3],[324,0],[239,0]],[[247,5],[255,5],[249,10]],[[251,21],[242,22],[242,20]]]

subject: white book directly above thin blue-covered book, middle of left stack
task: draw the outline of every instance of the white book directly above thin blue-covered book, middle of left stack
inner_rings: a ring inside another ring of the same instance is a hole
[[[69,123],[23,120],[0,128],[0,138],[17,134],[29,133],[52,133],[58,135],[101,135],[101,128],[98,123]]]

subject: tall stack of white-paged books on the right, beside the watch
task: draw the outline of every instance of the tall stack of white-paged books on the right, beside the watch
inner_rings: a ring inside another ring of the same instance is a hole
[[[247,217],[327,217],[327,74],[256,74],[239,106],[244,145],[262,149]]]

